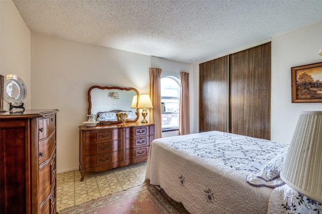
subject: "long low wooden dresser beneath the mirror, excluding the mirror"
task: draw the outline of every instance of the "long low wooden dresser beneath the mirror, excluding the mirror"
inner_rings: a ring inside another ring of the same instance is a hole
[[[106,171],[147,160],[152,140],[154,140],[154,124],[80,126],[81,181],[88,171]]]

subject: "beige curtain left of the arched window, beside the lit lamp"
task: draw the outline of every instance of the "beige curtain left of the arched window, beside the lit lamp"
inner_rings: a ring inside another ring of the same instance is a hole
[[[155,130],[154,130],[155,139],[162,138],[161,86],[160,86],[161,72],[162,72],[162,69],[160,68],[149,68],[150,98],[153,105],[152,121],[155,124]]]

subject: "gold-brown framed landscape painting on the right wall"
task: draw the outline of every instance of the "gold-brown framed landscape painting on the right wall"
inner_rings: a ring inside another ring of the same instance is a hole
[[[322,62],[291,68],[292,102],[322,102]]]

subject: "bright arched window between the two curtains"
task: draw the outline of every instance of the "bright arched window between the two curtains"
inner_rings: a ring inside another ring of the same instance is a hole
[[[161,78],[162,131],[179,129],[180,80],[175,76]]]

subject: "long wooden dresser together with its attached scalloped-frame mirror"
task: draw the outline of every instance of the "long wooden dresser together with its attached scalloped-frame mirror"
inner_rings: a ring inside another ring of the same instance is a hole
[[[113,92],[117,92],[117,98]],[[106,171],[147,160],[154,124],[136,122],[139,115],[131,109],[134,95],[138,100],[135,88],[96,85],[89,89],[88,114],[94,114],[99,123],[94,127],[79,126],[81,181],[88,171]],[[118,112],[128,114],[125,124],[117,120]]]

